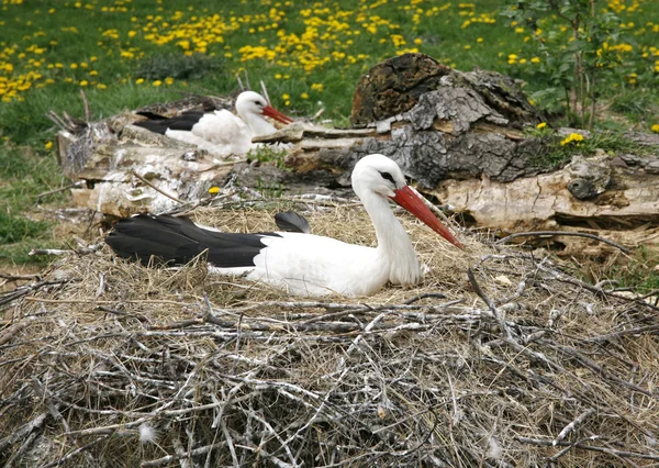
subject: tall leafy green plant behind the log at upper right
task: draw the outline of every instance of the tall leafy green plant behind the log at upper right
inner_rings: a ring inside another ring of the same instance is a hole
[[[533,40],[544,55],[544,60],[538,58],[538,73],[550,86],[532,94],[532,99],[559,101],[563,93],[568,116],[579,114],[581,126],[589,130],[594,123],[602,75],[618,60],[618,49],[627,46],[612,45],[619,40],[621,20],[613,12],[602,12],[595,3],[595,0],[510,0],[502,11],[511,22],[534,31]],[[559,23],[550,22],[552,18]],[[540,23],[550,25],[550,30],[543,31]]]

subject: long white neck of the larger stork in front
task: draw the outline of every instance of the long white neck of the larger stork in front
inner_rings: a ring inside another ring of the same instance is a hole
[[[372,191],[358,194],[376,229],[378,259],[389,268],[389,280],[395,285],[417,282],[421,269],[414,247],[389,201]]]

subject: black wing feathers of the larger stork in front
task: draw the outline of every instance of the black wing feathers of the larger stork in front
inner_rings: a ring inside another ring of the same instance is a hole
[[[167,265],[185,265],[206,250],[216,267],[252,267],[265,247],[261,238],[276,233],[234,234],[208,231],[188,218],[138,214],[121,220],[105,238],[120,257],[148,264],[152,257]]]

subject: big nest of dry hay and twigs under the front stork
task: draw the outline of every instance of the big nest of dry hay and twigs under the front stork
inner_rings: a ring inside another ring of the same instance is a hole
[[[193,219],[252,231],[272,230],[271,215],[199,209]],[[305,215],[316,234],[373,243],[358,207]],[[484,236],[463,235],[461,256],[401,218],[429,272],[418,287],[357,300],[291,298],[208,276],[203,263],[143,268],[108,248],[56,261],[0,296],[0,459],[659,461],[656,307],[588,285],[543,252]]]

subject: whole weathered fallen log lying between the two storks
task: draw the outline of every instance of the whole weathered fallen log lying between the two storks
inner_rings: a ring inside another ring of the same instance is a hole
[[[177,105],[190,109],[189,101],[154,109],[174,113]],[[515,81],[480,69],[454,70],[423,54],[384,60],[362,77],[350,116],[354,127],[297,122],[255,138],[287,144],[277,161],[219,161],[130,125],[135,118],[125,113],[123,120],[105,124],[110,131],[88,130],[83,135],[85,166],[69,169],[87,182],[74,189],[77,205],[121,216],[159,213],[198,201],[211,186],[222,187],[230,178],[252,188],[342,190],[343,196],[349,193],[355,163],[382,153],[396,160],[420,190],[477,226],[502,234],[588,232],[626,247],[659,238],[659,153],[651,156],[659,137],[625,135],[636,147],[650,148],[643,156],[599,152],[562,167],[538,164],[550,142],[525,131],[540,116]],[[573,132],[559,129],[555,137]],[[72,146],[70,135],[59,135],[65,153]],[[600,255],[610,248],[578,237],[552,241],[570,255]]]

